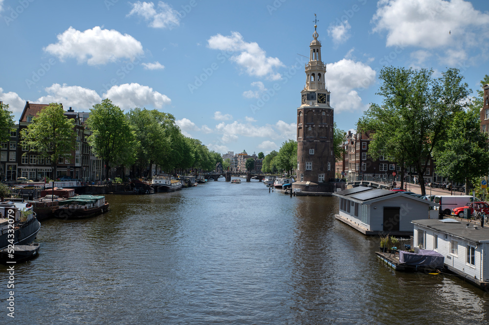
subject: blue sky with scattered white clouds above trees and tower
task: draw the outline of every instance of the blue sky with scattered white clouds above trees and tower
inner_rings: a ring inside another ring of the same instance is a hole
[[[334,121],[380,103],[385,65],[489,74],[487,0],[0,0],[0,100],[89,111],[110,98],[158,109],[209,149],[278,150],[295,138],[314,32]]]

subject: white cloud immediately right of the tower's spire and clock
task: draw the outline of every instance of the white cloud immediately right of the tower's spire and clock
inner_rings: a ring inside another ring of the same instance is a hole
[[[376,72],[369,65],[342,59],[328,65],[328,90],[335,111],[356,111],[368,108],[356,89],[368,88],[376,82]]]

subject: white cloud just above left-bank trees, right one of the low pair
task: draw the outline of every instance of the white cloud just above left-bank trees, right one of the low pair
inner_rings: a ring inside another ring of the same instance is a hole
[[[143,108],[147,105],[161,108],[172,102],[168,96],[160,94],[153,88],[136,83],[112,86],[104,94],[104,98],[110,98],[112,103],[121,109]]]

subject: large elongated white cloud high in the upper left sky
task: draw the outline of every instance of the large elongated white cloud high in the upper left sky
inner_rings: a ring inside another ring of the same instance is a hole
[[[143,47],[131,35],[122,35],[111,29],[95,26],[84,32],[69,27],[63,34],[58,34],[58,43],[49,44],[44,51],[65,58],[76,58],[78,63],[103,65],[118,59],[133,59],[143,54]]]

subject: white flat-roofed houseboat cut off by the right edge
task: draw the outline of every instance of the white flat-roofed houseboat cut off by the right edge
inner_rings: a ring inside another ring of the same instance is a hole
[[[414,245],[445,256],[445,267],[489,288],[489,228],[453,218],[413,220]]]

